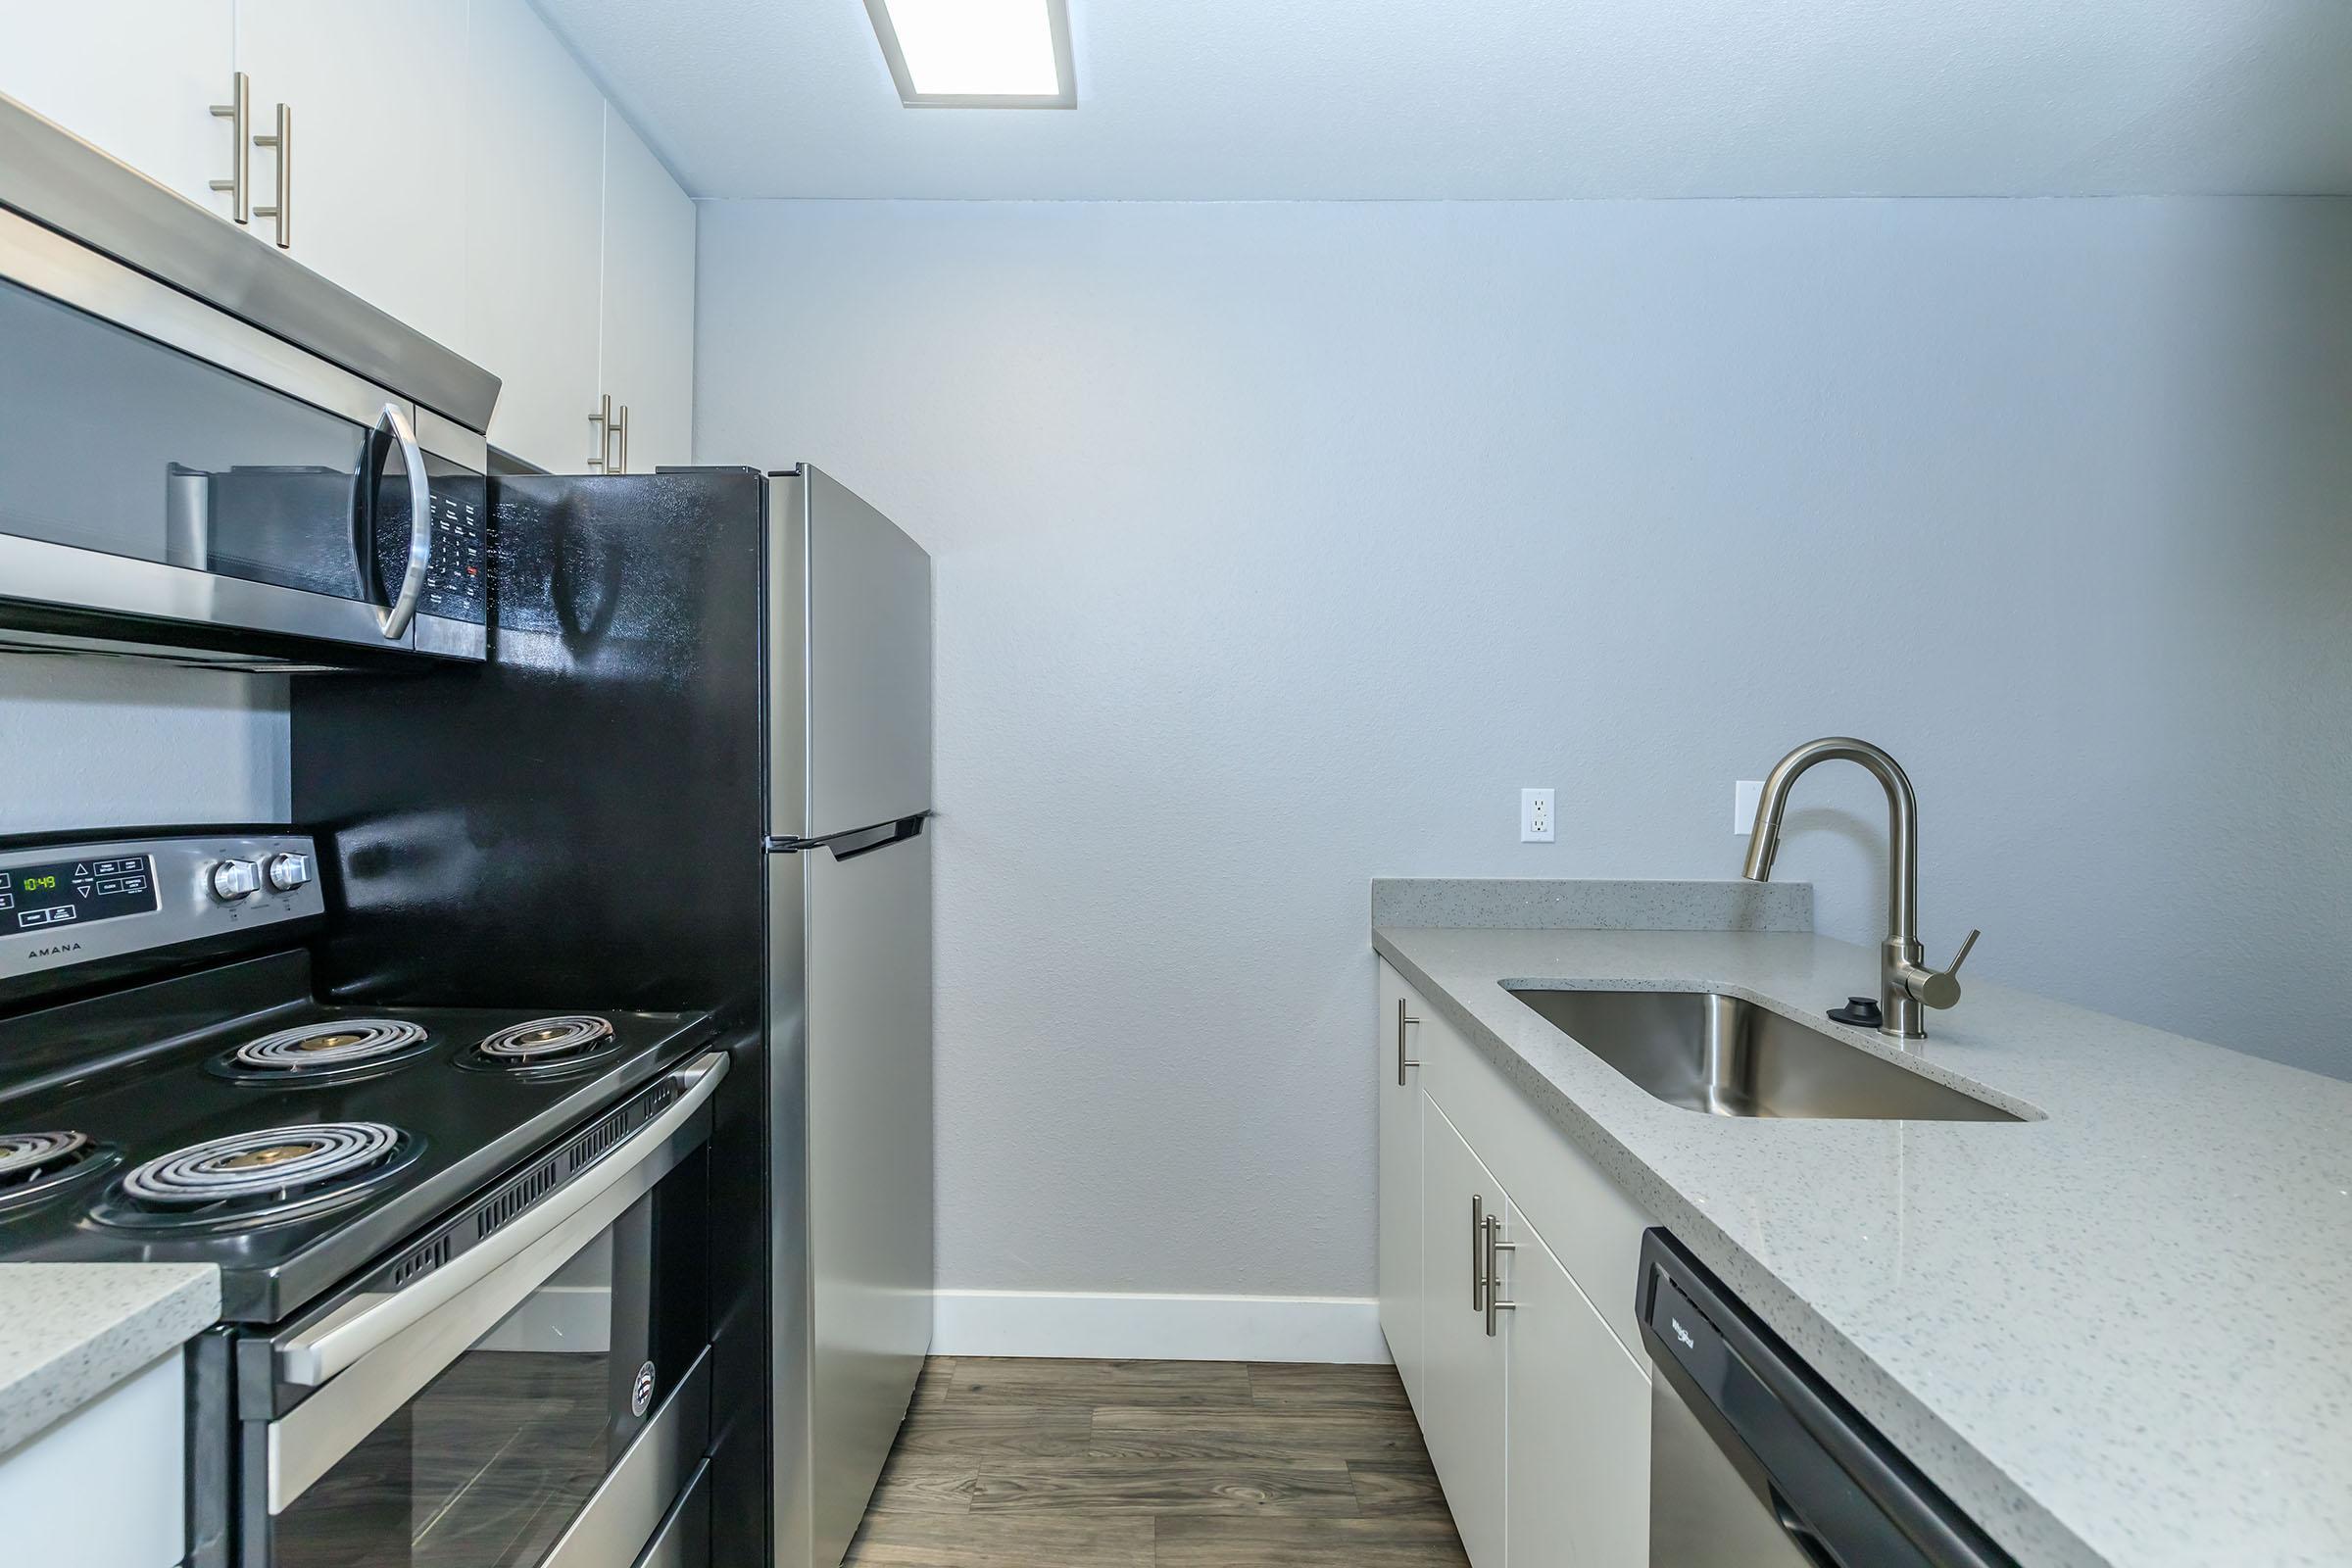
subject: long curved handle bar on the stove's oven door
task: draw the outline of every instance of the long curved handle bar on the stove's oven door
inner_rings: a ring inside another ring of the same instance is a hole
[[[694,1119],[724,1077],[724,1051],[710,1051],[708,1056],[696,1058],[675,1074],[682,1093],[670,1100],[670,1107],[640,1126],[604,1159],[588,1166],[586,1175],[574,1182],[564,1182],[541,1204],[524,1208],[520,1215],[492,1232],[487,1241],[466,1248],[416,1284],[397,1291],[369,1291],[353,1295],[320,1321],[282,1340],[278,1345],[278,1382],[306,1389],[325,1385],[336,1373],[355,1366],[362,1356],[381,1349],[400,1333],[407,1333],[449,1302],[459,1300],[473,1286],[482,1284],[522,1253],[567,1229],[567,1222],[583,1211],[602,1213],[609,1208],[609,1204],[597,1204],[597,1199],[619,1187],[663,1145],[668,1145],[670,1135]],[[644,1182],[630,1182],[635,1192],[630,1192],[628,1199],[635,1201],[659,1175],[661,1173],[647,1173]],[[609,1218],[597,1220],[588,1237],[604,1229],[609,1222]],[[572,1225],[569,1229],[579,1229],[579,1225]],[[532,1288],[536,1288],[536,1284]],[[524,1295],[527,1293],[529,1291],[524,1291]]]

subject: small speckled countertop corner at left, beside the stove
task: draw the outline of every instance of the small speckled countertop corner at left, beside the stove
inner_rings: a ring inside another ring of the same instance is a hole
[[[0,1262],[0,1458],[219,1316],[209,1262]]]

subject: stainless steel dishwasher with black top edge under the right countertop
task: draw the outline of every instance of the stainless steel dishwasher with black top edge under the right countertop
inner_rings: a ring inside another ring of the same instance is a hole
[[[1663,1229],[1637,1309],[1651,1568],[2016,1568]]]

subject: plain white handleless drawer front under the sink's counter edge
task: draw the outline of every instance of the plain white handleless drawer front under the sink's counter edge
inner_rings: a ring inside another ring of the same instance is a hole
[[[1642,1232],[1653,1220],[1421,994],[1409,987],[1406,994],[1432,1020],[1421,1027],[1423,1093],[1510,1190],[1625,1352],[1646,1363],[1632,1298]]]

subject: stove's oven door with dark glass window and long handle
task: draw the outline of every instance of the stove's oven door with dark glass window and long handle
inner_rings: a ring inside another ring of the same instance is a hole
[[[268,1368],[245,1568],[708,1568],[724,1072],[689,1063],[240,1349],[240,1382]]]

